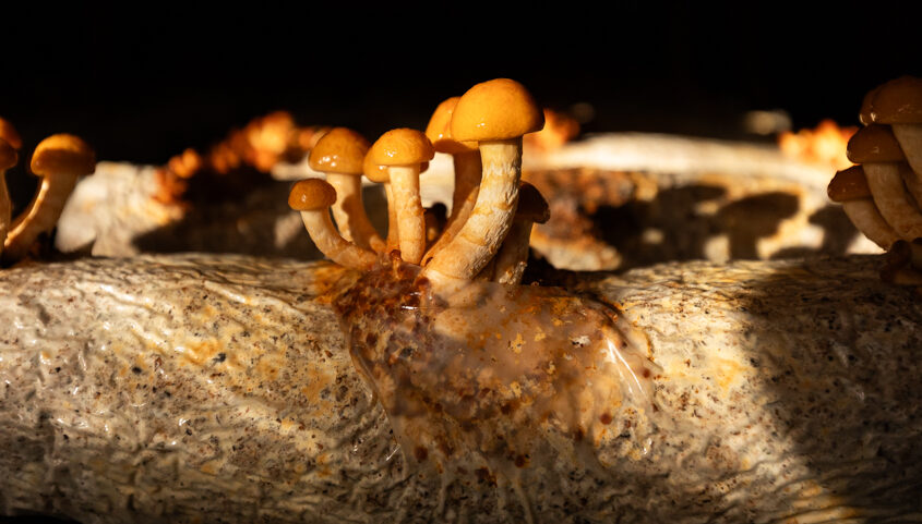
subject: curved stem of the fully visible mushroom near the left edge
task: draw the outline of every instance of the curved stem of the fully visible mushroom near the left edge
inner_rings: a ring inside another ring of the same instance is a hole
[[[58,223],[77,176],[43,176],[28,207],[13,220],[3,244],[3,257],[20,259],[39,234]]]

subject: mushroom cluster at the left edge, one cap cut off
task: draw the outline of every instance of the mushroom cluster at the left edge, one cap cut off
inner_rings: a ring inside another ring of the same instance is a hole
[[[81,138],[69,134],[45,138],[36,146],[29,166],[41,183],[29,205],[13,219],[4,174],[19,163],[22,145],[15,127],[0,119],[0,256],[5,263],[29,254],[38,236],[58,223],[76,181],[96,170],[96,156]]]

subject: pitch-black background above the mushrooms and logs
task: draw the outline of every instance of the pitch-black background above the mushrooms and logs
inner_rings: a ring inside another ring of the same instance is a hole
[[[8,13],[0,115],[100,159],[164,162],[275,109],[374,139],[508,76],[587,131],[737,137],[750,109],[857,123],[861,97],[922,74],[911,2],[96,3]],[[602,7],[606,9],[602,10]]]

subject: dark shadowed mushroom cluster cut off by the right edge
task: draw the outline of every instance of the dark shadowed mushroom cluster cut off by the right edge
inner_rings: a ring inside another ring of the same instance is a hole
[[[863,127],[849,141],[857,166],[828,186],[851,222],[893,254],[883,271],[896,283],[922,284],[922,78],[902,76],[867,93]]]

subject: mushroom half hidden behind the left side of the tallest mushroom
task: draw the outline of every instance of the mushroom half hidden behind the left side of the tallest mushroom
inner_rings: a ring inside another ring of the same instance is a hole
[[[460,97],[452,97],[435,108],[426,127],[426,136],[432,142],[436,153],[452,156],[455,168],[455,187],[452,194],[452,215],[445,223],[445,229],[435,245],[430,247],[422,264],[429,260],[444,247],[460,231],[470,211],[477,203],[478,186],[482,173],[480,153],[477,143],[458,142],[452,137],[452,113]]]

